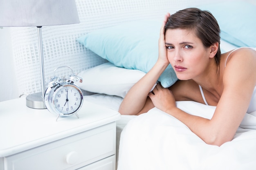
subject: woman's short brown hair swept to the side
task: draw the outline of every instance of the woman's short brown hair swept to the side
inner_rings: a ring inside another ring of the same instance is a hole
[[[220,27],[209,11],[202,11],[198,8],[187,8],[177,11],[168,18],[164,31],[167,29],[188,29],[194,31],[204,47],[210,47],[213,43],[218,42],[219,47],[214,58],[219,66],[221,54]]]

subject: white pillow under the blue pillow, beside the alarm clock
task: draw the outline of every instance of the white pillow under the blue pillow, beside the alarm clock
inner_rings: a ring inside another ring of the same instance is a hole
[[[93,93],[123,97],[146,73],[139,70],[120,68],[107,62],[79,73],[83,82],[79,87]]]

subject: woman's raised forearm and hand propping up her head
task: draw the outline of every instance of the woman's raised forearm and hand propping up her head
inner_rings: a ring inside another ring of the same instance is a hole
[[[154,107],[153,103],[148,98],[148,93],[169,64],[164,38],[164,26],[169,16],[169,13],[164,16],[164,21],[160,29],[158,60],[153,68],[132,86],[124,97],[119,107],[119,113],[122,115],[138,115],[140,113],[146,113],[149,109]]]

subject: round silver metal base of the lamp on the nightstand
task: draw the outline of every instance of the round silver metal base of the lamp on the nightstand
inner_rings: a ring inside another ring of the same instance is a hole
[[[29,108],[45,109],[45,102],[42,96],[42,92],[33,93],[26,97],[26,106]]]

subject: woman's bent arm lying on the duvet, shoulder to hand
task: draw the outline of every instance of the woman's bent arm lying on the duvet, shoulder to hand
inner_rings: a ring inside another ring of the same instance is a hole
[[[211,120],[189,115],[175,106],[173,94],[157,86],[149,94],[155,107],[173,115],[207,144],[231,141],[249,106],[256,86],[256,52],[240,49],[229,60],[223,75],[224,89]]]

